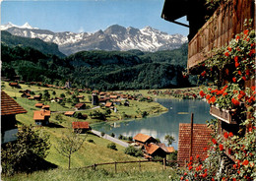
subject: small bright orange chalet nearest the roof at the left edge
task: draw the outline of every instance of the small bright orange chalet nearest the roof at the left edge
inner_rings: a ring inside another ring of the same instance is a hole
[[[46,126],[49,124],[50,110],[33,111],[33,120],[38,126]]]

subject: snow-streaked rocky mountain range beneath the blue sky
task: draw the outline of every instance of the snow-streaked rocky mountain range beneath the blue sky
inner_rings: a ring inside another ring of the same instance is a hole
[[[118,25],[108,27],[106,30],[88,32],[53,32],[32,28],[29,24],[18,27],[12,24],[1,26],[1,30],[7,30],[13,35],[31,38],[40,38],[47,42],[54,42],[66,55],[82,50],[129,50],[140,49],[142,51],[158,51],[174,49],[187,42],[187,37],[181,34],[168,34],[151,27],[142,30],[124,28]]]

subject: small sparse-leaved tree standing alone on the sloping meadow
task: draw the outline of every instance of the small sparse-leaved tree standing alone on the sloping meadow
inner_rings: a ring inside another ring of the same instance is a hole
[[[68,157],[69,169],[71,163],[71,154],[81,149],[87,137],[86,136],[85,138],[81,138],[81,136],[78,133],[79,131],[72,132],[71,130],[68,130],[68,133],[62,133],[62,137],[60,140],[57,141],[58,144],[57,147],[55,147],[55,149],[60,154],[62,154],[65,157]]]

